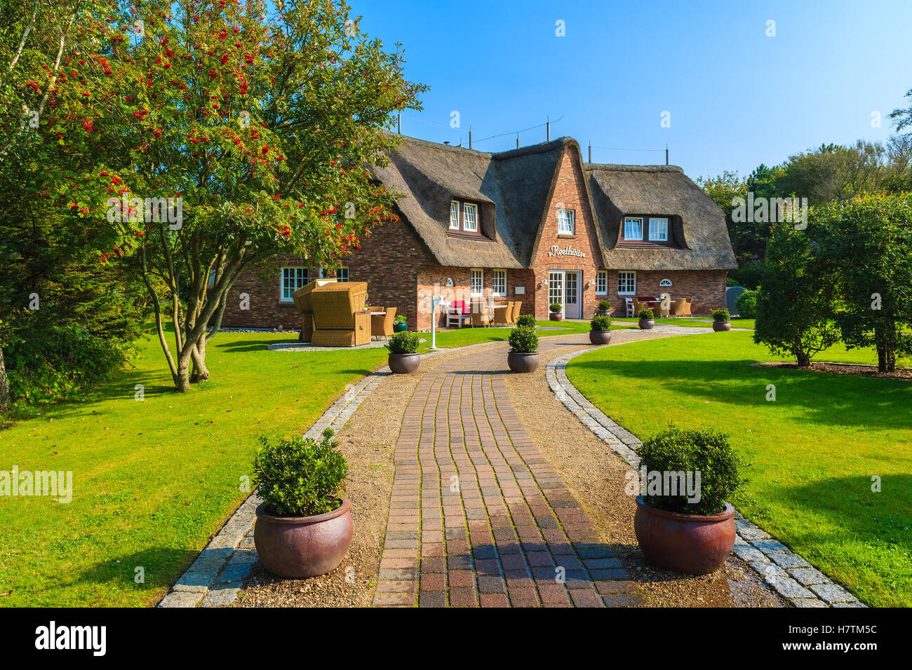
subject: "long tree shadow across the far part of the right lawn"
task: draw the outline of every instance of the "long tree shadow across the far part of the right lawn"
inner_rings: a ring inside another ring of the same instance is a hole
[[[826,426],[912,428],[912,413],[905,411],[912,400],[912,385],[903,381],[758,367],[750,359],[643,360],[630,359],[621,350],[617,356],[624,358],[577,358],[570,364],[571,375],[587,381],[606,375],[636,379],[679,397],[751,407],[760,421],[768,407],[793,407],[795,420]],[[776,387],[774,403],[766,400],[770,384]]]

